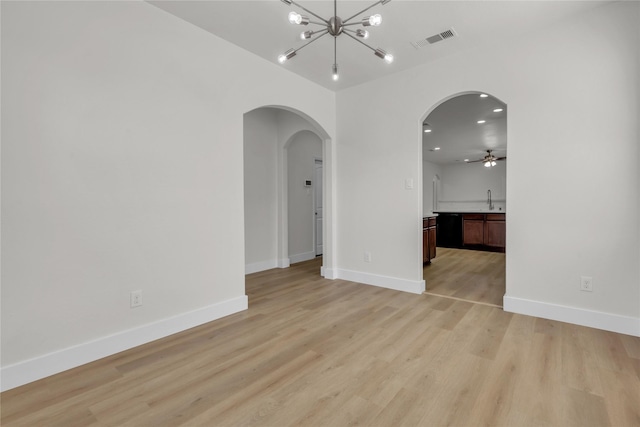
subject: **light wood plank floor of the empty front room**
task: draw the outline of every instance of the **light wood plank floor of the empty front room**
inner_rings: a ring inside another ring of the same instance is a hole
[[[9,426],[638,426],[640,338],[325,280],[2,394]]]

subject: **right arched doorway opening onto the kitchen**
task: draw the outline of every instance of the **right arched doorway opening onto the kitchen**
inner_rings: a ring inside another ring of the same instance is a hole
[[[423,212],[437,222],[426,293],[502,306],[507,105],[483,92],[448,97],[423,117]]]

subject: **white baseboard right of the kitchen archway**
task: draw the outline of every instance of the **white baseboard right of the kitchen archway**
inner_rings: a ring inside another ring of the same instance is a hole
[[[504,311],[640,337],[640,318],[585,310],[505,295]]]

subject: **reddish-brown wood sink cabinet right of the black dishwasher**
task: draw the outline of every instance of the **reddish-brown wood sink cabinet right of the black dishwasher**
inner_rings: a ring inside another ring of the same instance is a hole
[[[464,214],[463,245],[470,249],[504,252],[506,246],[505,214]]]

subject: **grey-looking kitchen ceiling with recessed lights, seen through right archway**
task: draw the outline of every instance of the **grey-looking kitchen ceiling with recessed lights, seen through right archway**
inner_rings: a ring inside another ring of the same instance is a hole
[[[502,111],[495,112],[496,109]],[[484,120],[485,123],[478,123]],[[486,150],[507,155],[507,106],[480,93],[460,95],[436,107],[424,121],[422,157],[438,164],[480,160]],[[435,148],[440,148],[436,150]]]

